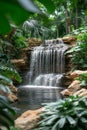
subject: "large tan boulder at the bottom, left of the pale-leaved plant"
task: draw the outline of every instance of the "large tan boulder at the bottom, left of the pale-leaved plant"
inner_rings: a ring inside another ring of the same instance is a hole
[[[21,130],[33,130],[38,126],[40,120],[39,114],[44,110],[40,108],[37,110],[28,110],[15,120],[15,126]]]

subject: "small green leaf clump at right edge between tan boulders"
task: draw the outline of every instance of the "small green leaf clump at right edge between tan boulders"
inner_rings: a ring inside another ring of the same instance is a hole
[[[80,86],[87,88],[87,73],[80,74],[79,77],[76,77],[75,79],[80,81]]]

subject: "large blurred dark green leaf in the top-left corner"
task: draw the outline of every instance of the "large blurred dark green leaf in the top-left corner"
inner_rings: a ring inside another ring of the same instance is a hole
[[[9,23],[21,25],[29,17],[29,12],[22,8],[17,0],[0,0],[0,12],[0,33],[2,34],[10,31]]]

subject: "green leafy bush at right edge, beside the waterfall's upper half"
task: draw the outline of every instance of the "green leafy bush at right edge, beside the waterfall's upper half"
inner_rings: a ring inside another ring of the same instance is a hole
[[[78,43],[66,52],[71,55],[71,62],[77,69],[87,68],[87,33],[78,35]]]

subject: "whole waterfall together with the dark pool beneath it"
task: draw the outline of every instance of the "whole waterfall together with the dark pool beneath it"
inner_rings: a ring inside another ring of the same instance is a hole
[[[30,69],[24,85],[19,88],[16,106],[24,110],[35,109],[44,102],[60,98],[67,48],[62,40],[56,39],[47,40],[45,45],[33,49]]]

